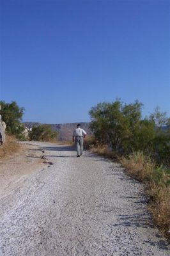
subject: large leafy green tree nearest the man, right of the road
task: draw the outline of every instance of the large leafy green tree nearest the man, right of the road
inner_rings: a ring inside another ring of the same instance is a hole
[[[116,100],[91,108],[90,127],[96,140],[111,144],[112,150],[116,152],[132,151],[134,133],[141,121],[141,106],[138,101],[123,105],[123,102]]]

